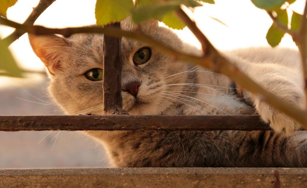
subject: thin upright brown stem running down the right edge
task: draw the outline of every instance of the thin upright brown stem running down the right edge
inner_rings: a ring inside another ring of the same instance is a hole
[[[305,9],[304,9],[304,14],[302,18],[302,23],[301,23],[301,28],[299,32],[299,40],[297,41],[298,44],[298,49],[301,52],[301,60],[302,60],[302,68],[303,68],[303,74],[304,74],[304,90],[305,90],[305,108],[307,109],[307,47],[306,47],[306,42],[307,42],[307,36],[306,36],[306,27],[307,27],[307,1],[305,4]]]

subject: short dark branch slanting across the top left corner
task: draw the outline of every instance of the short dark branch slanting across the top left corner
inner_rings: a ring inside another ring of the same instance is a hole
[[[41,15],[41,13],[43,13],[55,1],[56,0],[40,0],[38,5],[33,8],[32,12],[25,20],[24,24],[33,25],[36,19]],[[10,45],[23,34],[25,33],[15,30],[13,33],[11,33],[9,36],[5,37],[2,40],[4,41],[4,44]]]

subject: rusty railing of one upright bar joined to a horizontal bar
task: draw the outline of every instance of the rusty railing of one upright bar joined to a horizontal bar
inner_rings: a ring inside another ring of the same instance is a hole
[[[113,23],[105,27],[119,27]],[[0,131],[271,130],[258,115],[134,116],[122,109],[120,38],[103,36],[104,116],[0,116]]]

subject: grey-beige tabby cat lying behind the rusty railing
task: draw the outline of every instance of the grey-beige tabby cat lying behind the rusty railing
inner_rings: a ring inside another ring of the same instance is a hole
[[[123,30],[136,30],[129,18]],[[201,56],[173,31],[150,20],[138,26],[155,40]],[[50,78],[49,92],[66,114],[103,114],[103,35],[29,35]],[[84,131],[106,148],[115,167],[307,167],[300,125],[226,76],[172,59],[132,39],[121,40],[123,109],[133,115],[259,114],[274,131]],[[299,53],[248,48],[220,52],[270,92],[303,107]]]

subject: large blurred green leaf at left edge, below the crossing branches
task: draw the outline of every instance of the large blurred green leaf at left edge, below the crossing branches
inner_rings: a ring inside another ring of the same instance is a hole
[[[22,70],[15,63],[7,46],[0,40],[0,75],[22,77]]]

